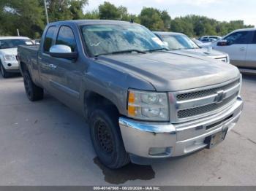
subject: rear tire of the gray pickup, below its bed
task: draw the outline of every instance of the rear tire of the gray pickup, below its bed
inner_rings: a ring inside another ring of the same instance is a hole
[[[23,72],[23,81],[24,87],[26,90],[26,95],[30,101],[39,101],[44,98],[44,90],[41,87],[38,87],[32,81],[29,71],[25,70]]]

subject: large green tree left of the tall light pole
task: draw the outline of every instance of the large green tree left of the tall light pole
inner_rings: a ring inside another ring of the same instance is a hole
[[[39,0],[1,0],[0,32],[4,35],[20,35],[38,38],[44,28],[43,7]]]

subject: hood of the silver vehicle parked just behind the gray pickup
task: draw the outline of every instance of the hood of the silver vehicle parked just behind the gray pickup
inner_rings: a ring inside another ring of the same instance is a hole
[[[208,56],[211,58],[224,58],[227,56],[224,52],[219,52],[217,50],[211,50],[208,51],[207,48],[197,48],[197,49],[187,49],[187,50],[174,50],[177,52],[184,52],[187,54],[194,54],[194,55],[200,55],[200,56]]]

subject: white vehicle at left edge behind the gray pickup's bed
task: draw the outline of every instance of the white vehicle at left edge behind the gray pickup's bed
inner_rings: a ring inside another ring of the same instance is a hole
[[[1,75],[6,78],[11,73],[19,73],[17,61],[18,45],[34,44],[28,37],[22,36],[0,36],[0,69]]]

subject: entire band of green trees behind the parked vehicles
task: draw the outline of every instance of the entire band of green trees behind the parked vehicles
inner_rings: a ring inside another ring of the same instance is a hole
[[[144,7],[139,15],[132,15],[127,7],[116,7],[105,1],[98,9],[83,12],[89,0],[46,0],[49,21],[78,19],[134,20],[152,31],[174,31],[188,36],[225,35],[238,28],[252,28],[243,20],[219,22],[217,20],[187,15],[171,19],[166,10]],[[0,35],[20,35],[39,38],[45,28],[45,9],[42,0],[0,0]]]

